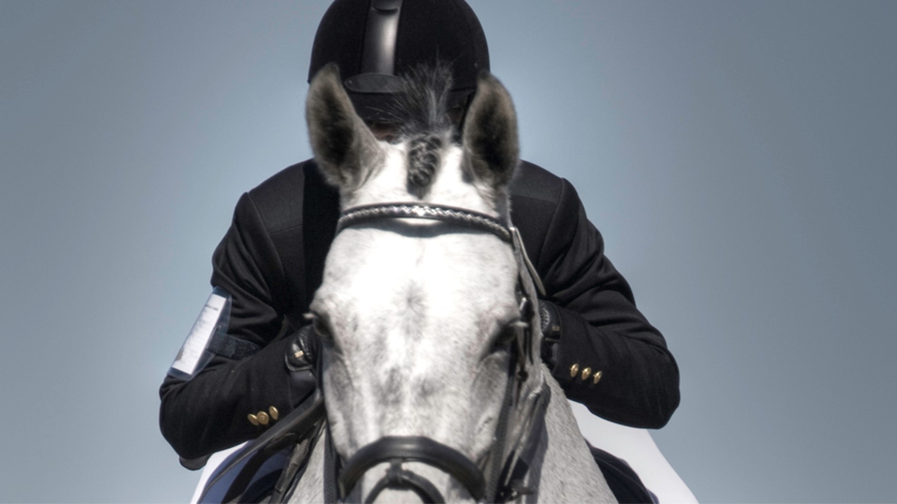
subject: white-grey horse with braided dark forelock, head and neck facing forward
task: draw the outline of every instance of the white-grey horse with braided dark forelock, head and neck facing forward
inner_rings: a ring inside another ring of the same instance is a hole
[[[458,143],[448,86],[444,68],[409,79],[392,142],[335,66],[309,88],[343,216],[310,314],[327,429],[289,500],[614,502],[539,358],[538,279],[509,220],[513,104],[484,75]]]

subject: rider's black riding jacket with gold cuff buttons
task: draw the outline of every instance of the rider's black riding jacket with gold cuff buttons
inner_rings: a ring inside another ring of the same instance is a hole
[[[679,404],[679,370],[605,257],[576,191],[523,161],[510,195],[511,221],[560,318],[553,377],[570,399],[609,421],[664,426]],[[161,431],[180,456],[253,439],[266,426],[250,423],[249,413],[274,406],[283,415],[309,395],[292,385],[284,353],[321,283],[338,200],[314,161],[283,169],[239,199],[213,255],[212,284],[232,296],[228,333],[263,348],[240,361],[215,357],[188,382],[165,378]]]

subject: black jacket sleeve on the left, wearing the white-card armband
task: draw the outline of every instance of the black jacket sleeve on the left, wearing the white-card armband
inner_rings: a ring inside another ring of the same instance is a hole
[[[215,249],[212,284],[231,293],[228,333],[263,348],[240,361],[215,356],[189,381],[165,378],[161,431],[185,458],[256,438],[266,427],[250,423],[249,413],[268,413],[271,407],[288,413],[298,402],[294,396],[301,394],[291,386],[283,361],[290,330],[276,301],[288,299],[280,260],[248,194],[240,198],[231,228]]]

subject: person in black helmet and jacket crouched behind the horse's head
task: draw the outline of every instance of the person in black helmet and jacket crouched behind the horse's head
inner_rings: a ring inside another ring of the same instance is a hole
[[[453,119],[489,70],[483,29],[464,0],[336,0],[320,22],[309,81],[339,65],[355,108],[388,138],[396,75],[452,64]],[[679,404],[666,342],[635,307],[570,182],[526,161],[510,186],[511,219],[545,287],[543,359],[566,395],[609,421],[658,429]],[[312,394],[315,336],[303,315],[321,283],[338,195],[302,161],[240,199],[213,255],[212,284],[230,295],[229,341],[193,376],[162,383],[161,431],[191,459],[259,436]],[[189,378],[189,379],[186,379]]]

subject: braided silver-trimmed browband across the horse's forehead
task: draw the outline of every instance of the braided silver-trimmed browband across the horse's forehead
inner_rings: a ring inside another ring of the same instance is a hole
[[[513,243],[508,226],[484,213],[472,212],[453,206],[434,204],[392,203],[368,204],[347,209],[336,222],[336,232],[340,232],[358,222],[374,219],[431,219],[434,221],[453,222],[466,226],[487,230],[499,238]]]

